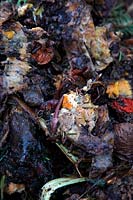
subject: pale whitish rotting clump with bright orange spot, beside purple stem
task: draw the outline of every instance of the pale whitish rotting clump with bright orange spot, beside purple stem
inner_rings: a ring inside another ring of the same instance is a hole
[[[72,138],[78,136],[81,126],[88,125],[89,131],[92,131],[98,118],[98,109],[88,95],[76,95],[74,92],[65,94],[62,107],[59,113],[61,131]]]

